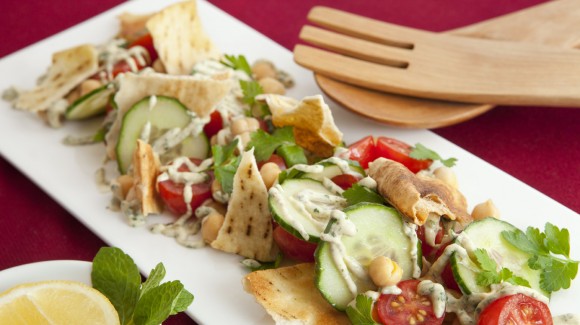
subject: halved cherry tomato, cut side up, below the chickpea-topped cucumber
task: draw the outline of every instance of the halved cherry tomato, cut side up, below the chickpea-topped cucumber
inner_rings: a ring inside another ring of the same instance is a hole
[[[445,313],[435,317],[429,296],[417,292],[419,280],[406,280],[397,285],[403,292],[399,295],[381,295],[375,304],[382,324],[442,324]]]

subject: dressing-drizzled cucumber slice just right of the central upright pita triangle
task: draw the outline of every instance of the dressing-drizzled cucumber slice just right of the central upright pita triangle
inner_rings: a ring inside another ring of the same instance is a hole
[[[332,201],[339,201],[339,203],[313,202],[318,207],[319,213],[315,209],[311,209],[312,211],[309,213],[301,209],[300,203],[297,202],[298,196],[305,193],[311,194],[310,197],[320,197],[322,201],[328,198]],[[317,243],[320,241],[320,234],[326,229],[330,219],[330,211],[346,206],[346,200],[332,193],[318,181],[295,178],[288,179],[281,185],[270,189],[268,204],[274,220],[284,230],[297,238],[304,238],[301,230],[298,230],[298,228],[302,228],[302,232],[308,234],[307,240]],[[325,212],[326,215],[324,215]]]

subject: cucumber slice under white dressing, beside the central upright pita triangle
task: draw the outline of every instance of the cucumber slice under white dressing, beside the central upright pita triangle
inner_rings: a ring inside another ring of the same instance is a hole
[[[312,215],[301,211],[292,200],[296,200],[296,196],[304,190],[315,192],[317,195],[328,196],[333,198],[342,198],[328,190],[322,183],[312,179],[288,179],[280,185],[280,191],[276,189],[270,190],[268,204],[274,220],[284,230],[293,234],[297,238],[304,238],[300,231],[296,229],[293,224],[300,224],[304,231],[308,234],[308,241],[317,243],[320,241],[320,234],[326,228],[329,217],[312,219]],[[273,192],[273,191],[276,191]],[[346,202],[346,201],[345,201]],[[337,208],[340,208],[337,206]],[[316,221],[318,222],[316,222]]]

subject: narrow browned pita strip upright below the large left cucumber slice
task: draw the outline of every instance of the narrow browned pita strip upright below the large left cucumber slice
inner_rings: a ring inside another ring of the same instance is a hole
[[[163,210],[155,191],[159,168],[159,159],[151,146],[147,142],[137,140],[137,149],[133,153],[133,189],[144,216]]]

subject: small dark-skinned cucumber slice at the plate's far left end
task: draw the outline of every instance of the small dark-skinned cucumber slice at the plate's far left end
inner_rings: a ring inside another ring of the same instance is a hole
[[[75,100],[64,114],[67,120],[82,120],[105,112],[109,98],[115,92],[112,84],[106,84]]]

